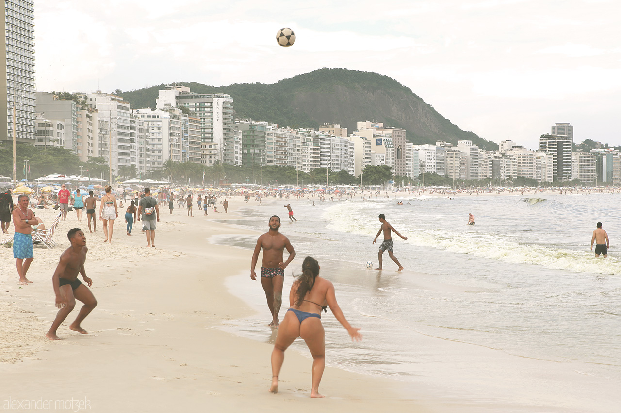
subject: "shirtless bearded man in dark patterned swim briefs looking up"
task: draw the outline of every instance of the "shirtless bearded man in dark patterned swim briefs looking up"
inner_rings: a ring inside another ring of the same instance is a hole
[[[256,281],[256,261],[259,258],[261,248],[263,248],[261,285],[265,290],[265,298],[268,300],[268,307],[272,314],[272,322],[268,326],[278,328],[278,324],[280,324],[278,313],[283,303],[284,269],[296,256],[296,250],[291,246],[289,239],[279,233],[280,218],[278,216],[274,215],[270,218],[269,226],[270,230],[256,240],[255,252],[252,254],[252,263],[250,264],[250,278]],[[289,252],[289,258],[283,262],[285,248]]]

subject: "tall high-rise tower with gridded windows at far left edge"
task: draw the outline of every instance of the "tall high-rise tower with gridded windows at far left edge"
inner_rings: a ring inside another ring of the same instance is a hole
[[[2,30],[4,76],[0,76],[0,142],[35,143],[34,0],[5,0]],[[2,70],[2,69],[0,69]]]

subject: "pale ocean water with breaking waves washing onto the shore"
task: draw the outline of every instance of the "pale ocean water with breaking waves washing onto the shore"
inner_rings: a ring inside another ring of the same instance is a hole
[[[315,199],[315,207],[311,198],[291,202],[297,223],[278,204],[242,206],[248,218],[236,224],[266,230],[270,215],[283,217],[281,232],[297,252],[284,297],[306,255],[335,283],[365,339],[352,344],[324,316],[331,365],[397,378],[414,396],[471,411],[613,412],[621,402],[620,203],[621,194],[390,195]],[[466,225],[469,212],[476,226]],[[393,234],[403,272],[386,253],[383,271],[365,268],[378,262],[380,213],[407,236]],[[597,221],[609,233],[607,259],[590,251]],[[252,249],[256,239],[211,241]],[[247,273],[229,283],[265,317],[226,328],[273,342],[260,285]],[[293,347],[305,352],[303,342]]]

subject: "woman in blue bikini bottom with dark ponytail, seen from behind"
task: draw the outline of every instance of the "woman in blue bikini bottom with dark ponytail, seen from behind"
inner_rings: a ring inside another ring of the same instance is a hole
[[[278,376],[283,366],[284,350],[302,337],[312,355],[311,397],[324,397],[319,393],[319,383],[325,368],[324,326],[321,324],[321,311],[330,306],[338,322],[349,333],[352,341],[362,340],[360,329],[351,327],[337,303],[334,285],[319,277],[319,264],[313,257],[302,262],[302,274],[293,282],[289,292],[291,308],[284,314],[283,323],[276,334],[274,350],[271,354],[272,383],[270,391],[278,393]],[[327,311],[326,311],[327,314]]]

